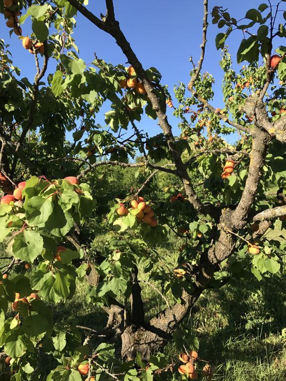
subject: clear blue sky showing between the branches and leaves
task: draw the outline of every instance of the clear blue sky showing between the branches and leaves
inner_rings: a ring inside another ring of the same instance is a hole
[[[89,0],[88,8],[97,16],[100,12],[105,13],[104,0]],[[168,84],[173,89],[174,84],[179,81],[188,83],[191,64],[190,56],[197,62],[200,56],[200,44],[202,42],[202,0],[114,0],[116,17],[127,39],[130,41],[143,67],[155,66],[162,74],[162,83]],[[231,16],[239,19],[252,7],[257,7],[261,1],[257,0],[216,0],[209,4],[209,30],[207,53],[203,70],[214,75],[214,107],[221,107],[221,80],[222,70],[219,67],[220,52],[216,51],[214,45],[215,35],[220,31],[217,25],[212,24],[211,12],[214,5],[228,8]],[[27,20],[23,26],[23,35],[31,32],[30,21]],[[34,58],[22,49],[20,41],[13,34],[9,38],[8,28],[1,22],[1,38],[10,43],[10,50],[14,56],[14,64],[22,70],[21,76],[27,76],[32,80],[35,72]],[[125,64],[126,58],[116,45],[114,39],[105,32],[99,30],[95,25],[84,19],[79,14],[74,31],[74,38],[79,47],[79,56],[86,63],[93,60],[94,52],[99,58],[113,64]],[[230,53],[235,63],[236,51],[239,42],[243,38],[242,31],[231,34],[227,41]],[[238,66],[236,65],[238,68]],[[49,70],[53,71],[55,63],[49,63]],[[176,106],[176,102],[174,102]],[[104,109],[106,111],[106,109]],[[177,120],[171,116],[168,109],[168,117],[174,126],[174,132],[178,133]],[[104,125],[103,113],[98,116],[97,123]],[[154,135],[160,132],[157,123],[143,119],[143,126]]]

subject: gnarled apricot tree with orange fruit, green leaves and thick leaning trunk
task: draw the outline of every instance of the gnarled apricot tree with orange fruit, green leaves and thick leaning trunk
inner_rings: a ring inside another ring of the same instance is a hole
[[[13,44],[22,41],[36,70],[33,83],[19,79],[0,40],[1,377],[165,380],[177,369],[161,351],[175,336],[184,363],[179,373],[211,380],[214,370],[207,364],[202,371],[198,341],[184,318],[208,288],[235,276],[279,273],[284,254],[285,244],[266,233],[278,218],[284,229],[286,216],[286,47],[279,45],[286,37],[285,1],[262,3],[241,20],[220,6],[212,10],[223,30],[215,40],[222,52],[223,109],[213,104],[214,78],[202,72],[208,0],[199,62],[191,63],[189,83],[175,86],[173,100],[159,70],[143,68],[113,1],[105,3],[105,15],[97,17],[87,0],[0,1]],[[79,58],[72,38],[78,13],[115,39],[128,67],[98,57],[86,65]],[[22,30],[27,17],[32,30]],[[245,64],[235,72],[225,41],[238,31],[244,38],[237,62]],[[45,77],[51,61],[56,71]],[[111,103],[108,128],[95,122],[104,102]],[[173,134],[166,105],[178,118],[180,136]],[[144,114],[160,134],[141,129]],[[230,133],[237,137],[233,145],[224,140]],[[93,194],[112,166],[136,171],[139,185],[109,204],[111,238],[94,253],[88,226],[102,200]],[[178,186],[163,187],[166,201],[156,205],[143,195],[160,173]],[[174,232],[185,244],[171,268],[156,245]],[[55,323],[51,305],[70,299],[86,277],[86,299],[106,311],[106,327]],[[148,320],[146,285],[167,304]],[[43,375],[47,363],[49,375]]]

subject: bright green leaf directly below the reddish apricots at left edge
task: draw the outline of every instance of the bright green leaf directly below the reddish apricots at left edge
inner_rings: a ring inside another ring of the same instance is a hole
[[[44,227],[54,210],[52,197],[34,196],[26,204],[25,216],[30,226]]]

